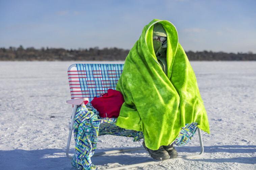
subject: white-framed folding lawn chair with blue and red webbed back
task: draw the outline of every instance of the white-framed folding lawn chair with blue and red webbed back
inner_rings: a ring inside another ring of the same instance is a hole
[[[91,104],[95,96],[99,96],[107,92],[109,88],[116,90],[117,82],[123,71],[123,64],[73,64],[68,69],[68,79],[71,92],[71,100],[67,103],[73,104],[73,113],[71,122],[69,122],[69,138],[67,144],[66,156],[70,159],[73,156],[69,155],[69,148],[71,136],[74,125],[74,118],[76,116],[79,105]],[[179,159],[193,159],[199,158],[204,152],[201,130],[198,129],[201,152],[198,155],[179,156]],[[141,137],[141,136],[140,136]],[[95,153],[93,156],[100,156],[106,154],[114,154],[120,152],[144,150],[144,147],[128,148],[123,150],[114,150],[108,152]],[[151,161],[140,164],[127,165],[111,169],[127,169],[138,166],[150,165],[159,161]]]

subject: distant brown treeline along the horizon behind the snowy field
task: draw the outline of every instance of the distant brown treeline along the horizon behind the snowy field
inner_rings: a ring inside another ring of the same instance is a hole
[[[35,49],[29,47],[24,49],[22,46],[0,48],[1,61],[34,61],[34,60],[125,60],[130,50],[120,48],[103,48],[98,47],[89,49],[63,49],[63,48],[41,48]],[[256,60],[256,54],[248,53],[226,53],[226,52],[212,52],[201,51],[193,52],[187,51],[189,60]]]

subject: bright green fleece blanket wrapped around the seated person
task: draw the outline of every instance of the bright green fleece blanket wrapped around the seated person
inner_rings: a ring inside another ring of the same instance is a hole
[[[162,24],[167,33],[167,76],[153,49],[155,23]],[[143,131],[145,144],[152,150],[172,143],[186,123],[197,122],[209,133],[196,76],[169,21],[154,19],[144,27],[125,60],[117,90],[125,102],[116,125]]]

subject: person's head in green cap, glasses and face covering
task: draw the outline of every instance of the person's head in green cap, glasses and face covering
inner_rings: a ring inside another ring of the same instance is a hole
[[[153,47],[155,53],[161,48],[162,44],[167,40],[167,34],[160,23],[154,24],[153,28]]]

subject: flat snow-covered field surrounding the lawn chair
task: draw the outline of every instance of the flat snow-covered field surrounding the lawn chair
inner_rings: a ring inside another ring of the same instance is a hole
[[[0,169],[75,170],[65,155],[72,113],[72,106],[66,104],[70,99],[67,69],[73,63],[0,62]],[[202,132],[204,155],[133,169],[256,169],[256,62],[197,61],[191,65],[210,124],[211,134]],[[105,135],[99,137],[96,152],[137,146],[142,141]],[[198,133],[176,149],[179,155],[198,154]],[[153,159],[145,150],[92,158],[99,169],[147,161]]]

